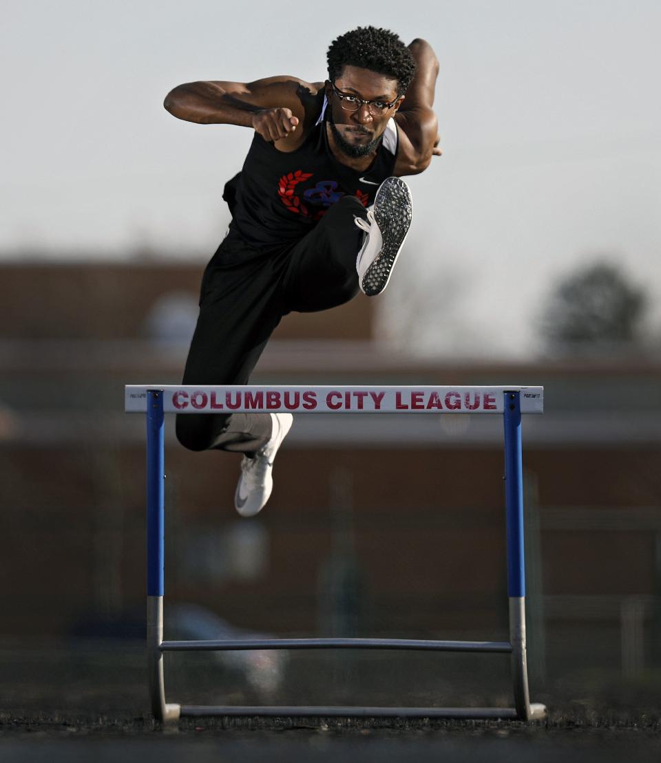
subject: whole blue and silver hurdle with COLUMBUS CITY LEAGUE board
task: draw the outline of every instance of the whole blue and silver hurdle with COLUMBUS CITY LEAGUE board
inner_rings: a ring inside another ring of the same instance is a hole
[[[124,410],[147,414],[147,661],[156,720],[182,716],[396,717],[543,720],[547,708],[530,703],[526,665],[525,567],[521,414],[543,413],[543,388],[397,386],[127,385]],[[301,638],[163,640],[165,454],[164,414],[222,412],[293,414],[499,414],[504,422],[505,512],[509,641]],[[166,701],[164,652],[250,649],[392,649],[494,652],[511,655],[514,707],[201,706]]]

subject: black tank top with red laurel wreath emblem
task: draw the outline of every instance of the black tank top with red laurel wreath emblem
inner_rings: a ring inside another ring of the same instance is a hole
[[[344,195],[372,205],[376,189],[395,169],[398,133],[390,119],[376,159],[365,172],[335,159],[326,133],[327,101],[317,124],[295,151],[279,151],[255,133],[243,169],[225,185],[232,213],[230,237],[240,237],[256,254],[292,246]]]

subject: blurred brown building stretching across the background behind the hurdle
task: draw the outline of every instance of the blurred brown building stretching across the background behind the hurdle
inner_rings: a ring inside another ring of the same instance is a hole
[[[3,635],[142,607],[144,421],[123,386],[179,381],[201,270],[0,266]],[[285,317],[254,383],[544,385],[523,430],[534,670],[658,660],[661,365],[422,361],[373,340],[371,307]],[[499,417],[300,416],[254,520],[240,457],[168,427],[168,600],[274,633],[505,633]]]

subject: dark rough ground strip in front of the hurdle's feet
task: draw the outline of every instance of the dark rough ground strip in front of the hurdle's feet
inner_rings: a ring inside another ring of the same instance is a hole
[[[3,720],[4,761],[610,761],[661,760],[658,729],[576,723],[180,723],[76,716]]]

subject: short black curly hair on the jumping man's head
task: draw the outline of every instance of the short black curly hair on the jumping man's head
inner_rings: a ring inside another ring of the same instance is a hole
[[[335,82],[345,66],[360,66],[397,80],[397,93],[404,95],[415,74],[411,51],[395,32],[358,27],[333,40],[328,48],[328,79]]]

